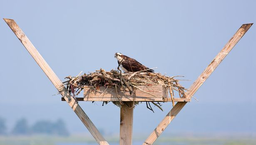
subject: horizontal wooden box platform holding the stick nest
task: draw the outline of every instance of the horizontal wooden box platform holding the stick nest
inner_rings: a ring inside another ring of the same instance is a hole
[[[77,101],[172,101],[168,96],[168,89],[162,85],[152,86],[137,86],[133,88],[133,94],[130,95],[129,90],[126,89],[125,93],[115,87],[84,87],[84,97],[77,98]],[[118,95],[118,97],[117,97]],[[189,98],[174,98],[174,101],[190,101]],[[62,97],[62,101],[65,99]]]

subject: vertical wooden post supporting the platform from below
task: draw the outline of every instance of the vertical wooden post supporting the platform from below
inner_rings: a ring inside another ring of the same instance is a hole
[[[127,105],[129,106],[127,106]],[[120,109],[120,145],[132,145],[133,102],[127,101]]]

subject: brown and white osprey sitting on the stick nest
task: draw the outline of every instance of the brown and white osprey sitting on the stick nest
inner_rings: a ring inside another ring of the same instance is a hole
[[[115,53],[115,58],[117,58],[118,65],[124,70],[124,72],[137,72],[141,70],[146,70],[145,72],[154,72],[154,70],[147,68],[146,66],[139,63],[133,58],[122,55],[121,53]],[[149,69],[149,70],[147,70]]]

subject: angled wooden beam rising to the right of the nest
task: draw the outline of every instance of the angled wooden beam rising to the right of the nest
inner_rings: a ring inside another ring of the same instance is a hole
[[[237,44],[237,42],[244,36],[246,31],[251,27],[252,24],[243,24],[234,36],[229,40],[229,42],[222,48],[222,50],[217,54],[217,56],[212,60],[204,72],[199,75],[197,80],[189,88],[188,94],[184,97],[191,98],[196,91],[201,87],[205,80],[211,75],[211,73],[217,68],[221,61],[227,56],[231,49]],[[161,135],[161,133],[167,128],[169,123],[176,117],[179,111],[186,105],[186,102],[177,102],[176,105],[169,111],[169,113],[164,117],[164,119],[159,123],[157,128],[149,135],[147,140],[144,141],[143,145],[152,145],[155,140]]]

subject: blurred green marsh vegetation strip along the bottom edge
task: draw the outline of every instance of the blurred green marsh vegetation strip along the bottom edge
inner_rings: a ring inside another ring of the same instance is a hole
[[[136,136],[134,145],[141,145],[145,137]],[[118,136],[106,137],[109,144],[118,145]],[[90,135],[50,136],[0,136],[0,145],[72,145],[91,144],[97,145]],[[246,137],[213,138],[213,137],[161,137],[154,145],[255,145],[256,139]]]

